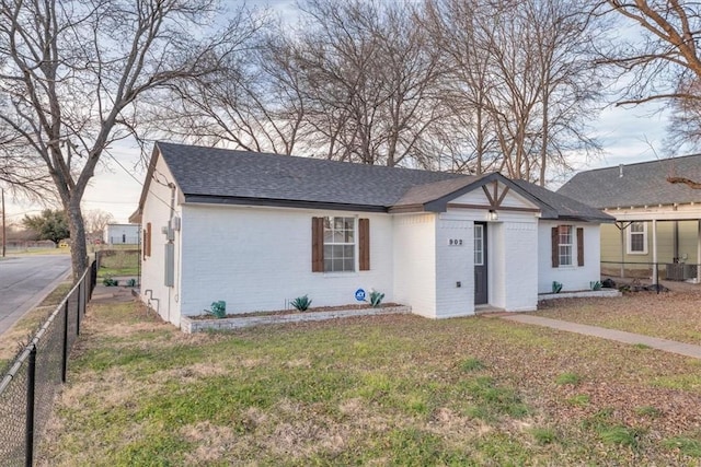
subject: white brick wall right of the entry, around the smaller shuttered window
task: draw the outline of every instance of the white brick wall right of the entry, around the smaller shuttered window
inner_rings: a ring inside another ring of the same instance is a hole
[[[576,229],[584,227],[584,266],[552,267],[551,229],[559,224],[573,226],[573,261],[577,261]],[[600,226],[599,224],[541,221],[539,224],[539,258],[538,293],[551,293],[552,282],[563,284],[562,291],[589,290],[589,282],[601,277],[600,266]]]

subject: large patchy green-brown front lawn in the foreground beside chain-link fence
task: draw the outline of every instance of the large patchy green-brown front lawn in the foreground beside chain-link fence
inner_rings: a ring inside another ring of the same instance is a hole
[[[701,362],[476,317],[183,335],[91,305],[39,465],[698,465]]]

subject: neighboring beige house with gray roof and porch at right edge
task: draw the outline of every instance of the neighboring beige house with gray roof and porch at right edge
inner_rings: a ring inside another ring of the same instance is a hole
[[[601,268],[611,275],[698,281],[701,154],[581,172],[558,190],[616,218],[601,225]]]

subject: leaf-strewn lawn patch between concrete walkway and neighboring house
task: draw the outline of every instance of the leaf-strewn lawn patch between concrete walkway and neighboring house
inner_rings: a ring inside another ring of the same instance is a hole
[[[700,303],[701,285],[699,291],[542,302],[537,315],[701,346]]]

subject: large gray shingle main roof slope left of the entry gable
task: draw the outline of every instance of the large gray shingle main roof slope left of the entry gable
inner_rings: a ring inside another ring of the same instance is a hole
[[[417,185],[462,175],[157,143],[185,196],[390,207]]]

